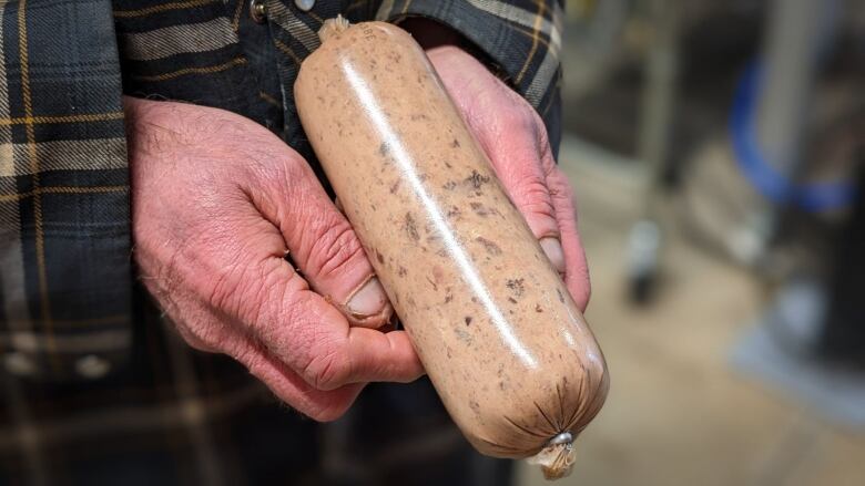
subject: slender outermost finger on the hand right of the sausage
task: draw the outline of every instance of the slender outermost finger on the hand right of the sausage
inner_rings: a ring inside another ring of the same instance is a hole
[[[586,311],[591,296],[589,266],[586,251],[577,230],[577,210],[573,204],[573,189],[564,173],[553,167],[547,177],[550,196],[556,207],[556,218],[561,231],[561,251],[564,257],[564,283],[573,297],[577,307]]]

